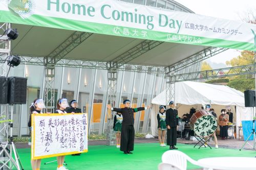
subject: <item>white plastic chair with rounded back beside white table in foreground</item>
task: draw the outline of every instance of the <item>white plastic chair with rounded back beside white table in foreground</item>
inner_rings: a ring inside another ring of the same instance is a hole
[[[169,164],[175,165],[179,167],[181,170],[186,170],[187,160],[190,163],[200,166],[197,161],[195,161],[194,159],[191,159],[189,156],[187,156],[181,151],[177,151],[177,150],[166,151],[162,155],[163,163],[169,163]]]

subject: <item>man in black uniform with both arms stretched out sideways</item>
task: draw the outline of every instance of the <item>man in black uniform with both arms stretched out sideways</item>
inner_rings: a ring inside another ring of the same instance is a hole
[[[150,106],[130,108],[130,100],[124,100],[123,104],[124,108],[112,108],[110,105],[107,107],[123,116],[120,151],[123,151],[124,154],[133,154],[131,151],[134,149],[134,112],[148,109]]]

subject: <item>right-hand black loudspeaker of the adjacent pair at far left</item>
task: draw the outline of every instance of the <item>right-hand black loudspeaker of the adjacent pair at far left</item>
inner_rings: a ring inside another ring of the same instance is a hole
[[[8,103],[26,104],[27,101],[27,78],[8,77]]]

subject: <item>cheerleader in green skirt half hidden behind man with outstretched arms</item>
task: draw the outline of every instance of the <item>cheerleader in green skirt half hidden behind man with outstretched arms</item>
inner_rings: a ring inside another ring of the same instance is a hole
[[[114,117],[114,131],[116,132],[116,148],[120,148],[121,130],[122,130],[123,116],[117,113]]]

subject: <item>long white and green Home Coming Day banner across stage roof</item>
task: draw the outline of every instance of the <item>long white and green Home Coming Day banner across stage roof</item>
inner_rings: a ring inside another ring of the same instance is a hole
[[[256,49],[256,25],[251,23],[114,0],[0,0],[0,22],[240,50]]]

